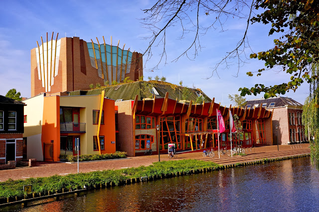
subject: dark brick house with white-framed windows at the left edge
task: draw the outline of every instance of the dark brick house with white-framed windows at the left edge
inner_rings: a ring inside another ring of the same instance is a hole
[[[0,164],[23,158],[24,103],[0,95]]]

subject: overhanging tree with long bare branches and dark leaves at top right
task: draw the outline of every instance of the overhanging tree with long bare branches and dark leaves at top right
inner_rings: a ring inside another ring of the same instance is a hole
[[[279,85],[256,84],[250,89],[240,88],[241,96],[264,92],[264,97],[267,99],[277,94],[283,95],[290,90],[296,91],[302,83],[311,83],[318,78],[310,72],[312,64],[319,61],[319,1],[159,0],[144,12],[146,17],[142,19],[142,23],[152,32],[147,38],[150,42],[144,54],[147,54],[149,59],[152,56],[152,48],[162,46],[159,63],[162,59],[166,62],[166,30],[170,28],[174,27],[175,31],[181,31],[180,39],[192,36],[189,45],[186,45],[182,53],[173,60],[177,61],[181,56],[190,59],[196,57],[201,48],[200,36],[205,35],[210,29],[226,30],[224,23],[227,18],[247,20],[245,31],[238,44],[215,65],[213,73],[217,72],[218,68],[228,68],[232,64],[236,64],[239,69],[246,63],[247,51],[251,51],[247,37],[250,23],[271,24],[269,35],[278,33],[278,38],[274,40],[274,48],[258,53],[252,52],[250,58],[264,61],[265,67],[247,72],[247,75],[253,76],[256,72],[257,76],[260,76],[262,72],[277,67],[277,70],[288,74],[287,79],[284,80],[285,83]],[[209,25],[202,25],[199,24],[202,15],[214,18]]]

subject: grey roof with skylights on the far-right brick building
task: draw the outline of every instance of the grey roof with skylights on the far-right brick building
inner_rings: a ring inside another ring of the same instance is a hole
[[[273,97],[269,99],[255,99],[255,100],[248,100],[246,102],[247,108],[254,108],[254,106],[259,107],[283,107],[283,106],[303,106],[302,104],[298,103],[297,101],[288,98],[288,97]]]

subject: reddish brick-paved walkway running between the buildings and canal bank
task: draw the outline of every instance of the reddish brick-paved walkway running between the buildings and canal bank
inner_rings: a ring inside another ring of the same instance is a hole
[[[218,164],[227,165],[235,164],[242,162],[256,161],[263,158],[279,158],[292,155],[308,154],[310,153],[309,144],[299,144],[299,145],[283,145],[279,146],[279,151],[277,146],[264,146],[252,148],[251,152],[248,152],[246,156],[242,157],[230,157],[230,156],[221,156],[218,158],[218,154],[215,151],[215,157],[203,157],[201,152],[192,152],[192,153],[183,153],[178,154],[177,159],[172,160],[181,160],[181,159],[197,159],[204,161],[213,161]],[[168,160],[167,154],[160,155],[161,161]],[[109,160],[109,161],[97,161],[97,162],[86,162],[80,163],[79,171],[80,172],[92,172],[97,170],[107,170],[107,169],[121,169],[127,167],[138,167],[141,165],[149,166],[153,162],[159,161],[158,155],[150,156],[139,156],[131,157],[128,159],[120,160]],[[67,174],[77,173],[77,164],[67,164],[67,163],[44,163],[37,162],[35,167],[25,167],[25,168],[16,168],[11,170],[1,170],[0,171],[0,181],[6,181],[9,178],[13,180],[17,179],[27,179],[30,177],[48,177],[52,175],[67,175]]]

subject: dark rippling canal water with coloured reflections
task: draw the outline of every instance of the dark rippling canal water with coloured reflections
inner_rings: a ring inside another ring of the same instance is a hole
[[[2,210],[319,211],[319,172],[305,157],[112,187],[25,209]]]

